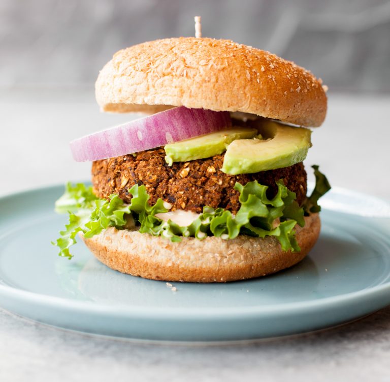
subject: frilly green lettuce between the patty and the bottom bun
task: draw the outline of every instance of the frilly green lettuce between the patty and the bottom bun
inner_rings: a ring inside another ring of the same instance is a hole
[[[59,256],[72,258],[69,248],[76,243],[76,234],[83,232],[89,238],[99,234],[107,227],[124,229],[131,223],[136,223],[141,233],[153,236],[164,236],[171,241],[181,241],[182,237],[217,236],[222,239],[232,239],[239,234],[265,237],[275,236],[284,251],[300,251],[295,238],[294,227],[298,223],[304,226],[304,215],[318,212],[318,198],[330,188],[328,180],[313,166],[316,176],[316,186],[307,198],[303,207],[296,202],[296,194],[277,182],[278,192],[272,198],[267,197],[267,186],[257,181],[246,185],[236,183],[239,191],[240,209],[236,215],[222,208],[213,209],[206,206],[203,213],[189,226],[181,227],[171,220],[168,222],[155,215],[168,212],[162,199],[153,205],[148,203],[149,195],[145,186],[135,185],[129,189],[132,199],[124,203],[118,195],[112,194],[109,200],[97,198],[91,187],[79,183],[66,186],[65,193],[57,200],[55,210],[59,213],[69,212],[69,224],[60,231],[53,245],[59,248]]]

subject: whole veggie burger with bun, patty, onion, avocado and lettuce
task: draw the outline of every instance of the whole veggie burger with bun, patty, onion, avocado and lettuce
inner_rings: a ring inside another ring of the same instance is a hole
[[[104,112],[147,116],[71,143],[92,185],[56,202],[69,224],[53,244],[71,258],[79,234],[112,269],[146,279],[228,282],[293,266],[320,231],[330,189],[302,161],[323,122],[326,88],[269,52],[210,38],[123,49],[95,84]]]

